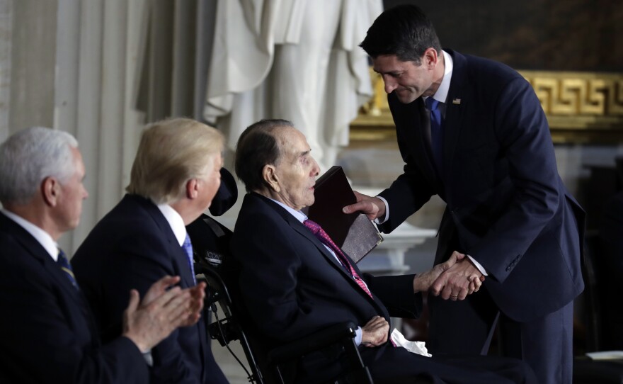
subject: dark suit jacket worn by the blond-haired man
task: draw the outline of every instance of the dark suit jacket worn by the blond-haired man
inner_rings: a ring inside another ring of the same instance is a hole
[[[98,222],[76,251],[72,266],[103,340],[121,332],[130,289],[141,297],[159,278],[181,276],[193,286],[188,259],[158,207],[126,195]],[[152,383],[227,383],[207,346],[205,324],[174,331],[153,350]]]

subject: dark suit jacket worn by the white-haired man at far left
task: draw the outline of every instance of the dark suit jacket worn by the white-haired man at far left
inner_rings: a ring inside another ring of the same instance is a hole
[[[147,383],[130,339],[101,346],[81,293],[39,242],[0,214],[0,383]]]

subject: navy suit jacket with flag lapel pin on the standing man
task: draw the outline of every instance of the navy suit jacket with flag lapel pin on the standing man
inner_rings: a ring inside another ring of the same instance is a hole
[[[530,84],[503,64],[452,55],[443,123],[443,169],[432,163],[421,98],[389,94],[404,174],[380,195],[391,232],[438,194],[447,208],[435,262],[453,250],[474,257],[503,312],[527,321],[558,310],[583,290],[584,213],[556,169],[547,120]],[[539,300],[535,300],[538,297]]]

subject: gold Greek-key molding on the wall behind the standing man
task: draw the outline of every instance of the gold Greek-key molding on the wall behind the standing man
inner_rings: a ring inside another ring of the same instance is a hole
[[[519,71],[547,115],[551,137],[563,143],[623,143],[623,74]],[[395,140],[384,84],[370,69],[374,96],[350,127],[351,140]]]

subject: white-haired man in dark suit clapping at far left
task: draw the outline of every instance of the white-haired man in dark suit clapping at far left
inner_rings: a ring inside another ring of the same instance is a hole
[[[115,314],[120,331],[101,345],[56,244],[78,225],[83,179],[78,142],[67,132],[29,128],[0,145],[0,383],[148,383],[143,354],[199,319],[203,285],[167,290],[179,277],[166,276],[142,290],[141,303],[130,285]]]

